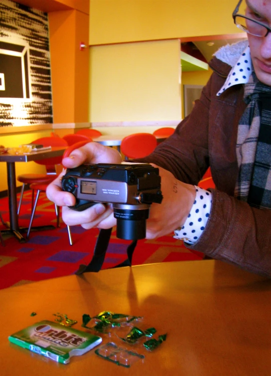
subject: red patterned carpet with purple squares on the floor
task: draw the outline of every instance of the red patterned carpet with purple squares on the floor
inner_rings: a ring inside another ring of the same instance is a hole
[[[19,225],[27,227],[31,211],[31,192],[26,191],[19,215]],[[7,198],[0,199],[0,212],[4,221],[9,220]],[[54,205],[40,194],[33,226],[56,224]],[[1,226],[0,229],[4,227]],[[31,232],[28,242],[19,243],[11,235],[4,236],[5,246],[0,244],[0,289],[10,286],[74,274],[80,264],[87,264],[92,257],[98,229],[71,228],[73,245],[69,245],[64,223],[60,228]],[[116,238],[112,232],[103,269],[110,268],[126,259],[130,241]],[[169,261],[200,260],[184,247],[182,241],[169,236],[156,240],[139,240],[133,255],[133,265]]]

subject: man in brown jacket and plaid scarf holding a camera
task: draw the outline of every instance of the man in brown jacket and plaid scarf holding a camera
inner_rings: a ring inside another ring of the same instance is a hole
[[[271,0],[246,0],[233,17],[248,42],[223,47],[191,114],[142,162],[159,166],[163,202],[152,204],[148,239],[175,231],[187,247],[271,276]],[[65,167],[121,163],[114,149],[89,143],[65,158]],[[216,189],[196,186],[211,167]],[[47,196],[64,206],[63,220],[84,228],[115,225],[112,208],[75,212],[74,197],[56,179]]]

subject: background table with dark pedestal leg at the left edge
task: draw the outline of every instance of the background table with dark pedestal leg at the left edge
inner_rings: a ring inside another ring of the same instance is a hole
[[[1,230],[1,233],[13,234],[21,243],[26,242],[22,233],[27,231],[27,228],[19,228],[18,215],[17,215],[17,197],[16,197],[16,162],[30,162],[38,159],[57,157],[63,155],[65,151],[64,146],[55,146],[50,149],[41,151],[31,151],[27,154],[0,154],[0,162],[6,163],[7,169],[7,193],[8,193],[8,208],[9,208],[9,222],[5,222],[6,229]],[[50,229],[52,226],[39,226],[38,229]],[[36,230],[37,228],[32,228]]]

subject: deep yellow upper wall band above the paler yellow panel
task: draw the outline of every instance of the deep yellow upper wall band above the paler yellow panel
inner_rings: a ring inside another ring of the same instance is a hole
[[[237,0],[90,0],[89,44],[237,33]]]

